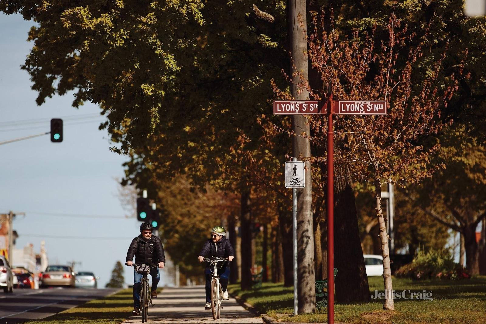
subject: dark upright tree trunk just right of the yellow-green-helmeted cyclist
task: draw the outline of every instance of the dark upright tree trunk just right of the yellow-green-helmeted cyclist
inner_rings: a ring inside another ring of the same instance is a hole
[[[250,190],[244,189],[241,195],[241,288],[251,289],[251,213],[250,213]]]

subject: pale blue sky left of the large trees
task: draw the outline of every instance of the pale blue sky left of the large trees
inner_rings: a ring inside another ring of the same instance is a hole
[[[0,142],[49,132],[52,118],[64,120],[64,138],[52,143],[43,135],[0,145],[0,213],[25,213],[13,222],[17,249],[31,243],[38,253],[44,240],[49,263],[81,262],[75,270],[94,272],[104,287],[140,234],[140,222],[118,197],[116,179],[128,158],[109,150],[106,130],[98,130],[105,119],[97,105],[73,108],[69,93],[37,106],[37,92],[20,69],[33,46],[26,41],[33,25],[0,13]],[[126,283],[131,269],[125,267]]]

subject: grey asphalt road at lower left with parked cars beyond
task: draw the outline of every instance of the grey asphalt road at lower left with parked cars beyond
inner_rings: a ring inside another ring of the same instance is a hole
[[[0,323],[23,323],[45,318],[92,299],[104,297],[118,289],[14,289],[0,294]]]

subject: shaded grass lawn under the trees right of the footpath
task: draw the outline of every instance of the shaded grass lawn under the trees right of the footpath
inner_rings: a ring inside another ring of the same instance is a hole
[[[370,295],[383,290],[382,277],[369,278]],[[486,276],[470,280],[445,281],[393,278],[394,290],[422,292],[432,290],[433,300],[395,299],[395,311],[383,311],[382,300],[360,304],[335,304],[336,323],[363,324],[470,324],[486,323]],[[260,311],[278,321],[326,323],[326,310],[315,314],[291,316],[293,288],[283,284],[265,283],[263,287],[242,291],[239,285],[229,285],[232,294],[242,297]],[[352,293],[352,292],[350,292]]]

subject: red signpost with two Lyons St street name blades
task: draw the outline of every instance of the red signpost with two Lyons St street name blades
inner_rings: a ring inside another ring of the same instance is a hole
[[[327,114],[328,117],[328,323],[334,324],[334,133],[332,115],[386,115],[385,101],[334,101],[332,94],[325,102],[322,111],[320,101],[274,101],[274,115],[315,115]]]

